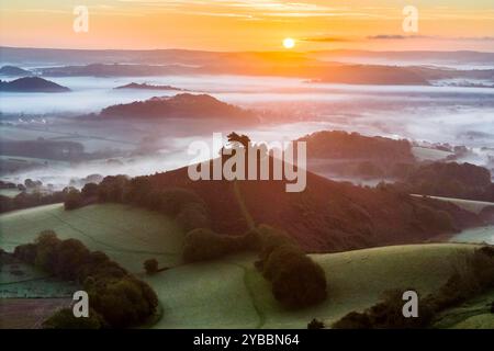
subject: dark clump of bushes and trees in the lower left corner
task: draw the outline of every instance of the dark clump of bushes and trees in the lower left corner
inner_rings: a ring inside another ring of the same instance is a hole
[[[79,240],[59,240],[53,230],[43,231],[35,244],[16,247],[14,256],[58,278],[82,283],[91,307],[109,327],[137,325],[153,315],[158,306],[158,297],[149,285],[111,261],[106,254],[90,252]],[[54,315],[47,320],[47,326],[79,326],[80,321],[68,317],[67,312]]]

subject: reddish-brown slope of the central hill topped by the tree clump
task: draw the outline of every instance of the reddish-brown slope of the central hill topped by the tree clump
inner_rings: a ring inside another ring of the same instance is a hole
[[[187,168],[147,179],[157,189],[179,186],[197,193],[217,233],[245,233],[247,212],[256,224],[284,229],[310,252],[423,242],[481,223],[450,203],[334,182],[311,172],[301,193],[287,193],[284,181],[193,182]]]

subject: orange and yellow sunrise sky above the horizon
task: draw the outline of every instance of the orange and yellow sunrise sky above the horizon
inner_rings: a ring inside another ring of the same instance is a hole
[[[77,5],[88,32],[74,31]],[[2,46],[283,50],[287,37],[294,50],[494,52],[494,0],[0,0]]]

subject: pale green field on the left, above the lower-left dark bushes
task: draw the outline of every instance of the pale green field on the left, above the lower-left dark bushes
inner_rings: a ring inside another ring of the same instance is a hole
[[[160,265],[180,261],[182,230],[172,219],[149,211],[97,204],[64,211],[61,204],[14,211],[0,216],[0,247],[13,250],[33,241],[42,230],[53,229],[59,238],[77,238],[91,250],[101,250],[132,272],[156,258]]]

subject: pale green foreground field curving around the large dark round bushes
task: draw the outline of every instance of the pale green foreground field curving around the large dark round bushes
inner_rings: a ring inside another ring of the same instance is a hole
[[[254,256],[178,267],[144,278],[157,291],[164,316],[155,328],[306,328],[364,309],[390,288],[430,293],[442,285],[470,245],[416,245],[315,254],[329,298],[299,312],[283,309],[254,268]]]

